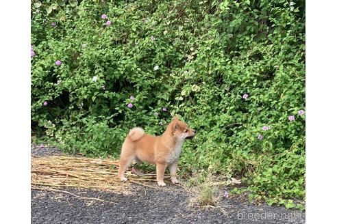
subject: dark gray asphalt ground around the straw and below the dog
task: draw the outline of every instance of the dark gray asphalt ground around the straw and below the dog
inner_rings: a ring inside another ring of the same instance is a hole
[[[61,154],[56,148],[32,148],[32,156],[56,154]],[[168,184],[166,189],[181,188]],[[185,191],[163,191],[137,184],[127,195],[79,188],[60,190],[116,204],[32,189],[32,223],[305,223],[305,212],[266,204],[256,206],[237,199],[222,198],[221,208],[190,208]]]

